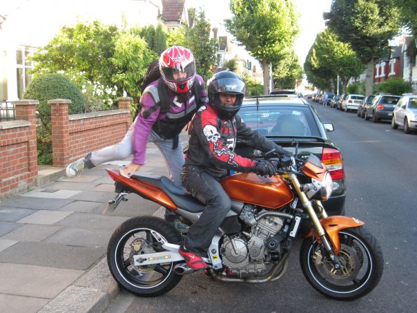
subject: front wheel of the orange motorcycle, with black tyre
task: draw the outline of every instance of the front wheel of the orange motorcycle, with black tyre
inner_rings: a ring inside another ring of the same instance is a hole
[[[382,249],[364,227],[339,231],[341,269],[331,260],[315,260],[320,253],[316,238],[305,238],[300,248],[302,273],[309,284],[324,296],[336,300],[353,300],[368,294],[378,285],[384,269]]]

